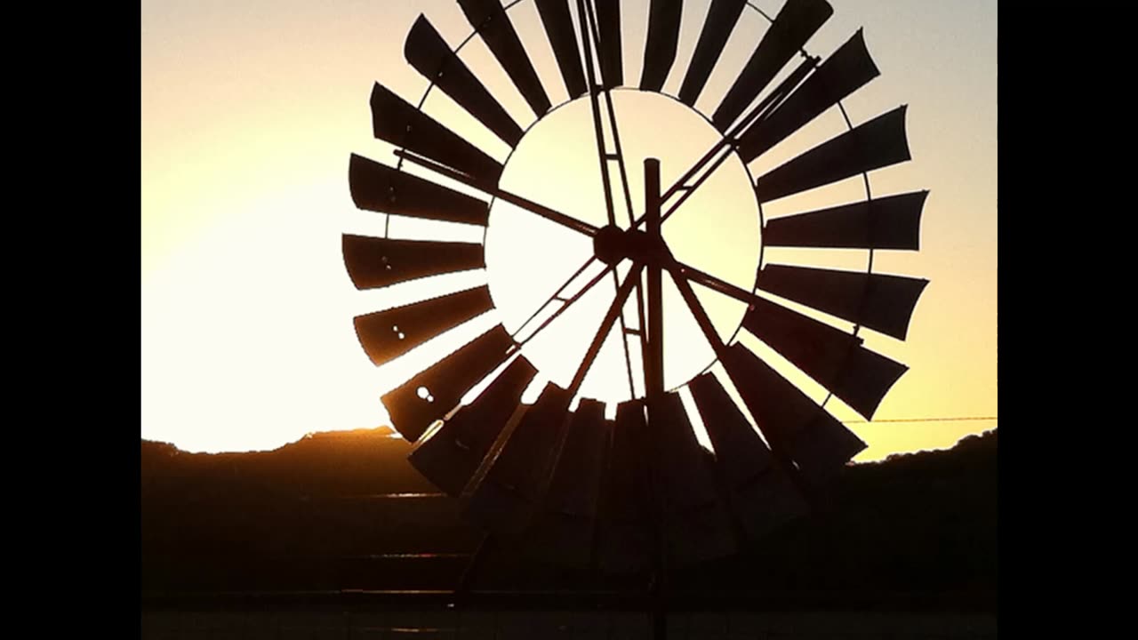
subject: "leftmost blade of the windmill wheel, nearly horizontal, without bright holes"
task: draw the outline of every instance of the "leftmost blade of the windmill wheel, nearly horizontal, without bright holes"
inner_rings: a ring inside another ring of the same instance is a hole
[[[344,264],[357,289],[486,266],[481,245],[344,233]]]

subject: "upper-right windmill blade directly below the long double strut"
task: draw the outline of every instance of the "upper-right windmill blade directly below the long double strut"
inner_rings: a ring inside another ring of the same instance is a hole
[[[859,28],[769,116],[743,132],[739,156],[753,161],[879,75]]]

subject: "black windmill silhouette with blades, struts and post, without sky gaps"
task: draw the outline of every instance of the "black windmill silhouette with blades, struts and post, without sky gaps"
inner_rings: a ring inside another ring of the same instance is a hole
[[[498,0],[459,0],[470,26],[541,121],[556,107]],[[533,202],[500,188],[503,165],[391,90],[371,95],[377,138],[398,147],[391,167],[353,155],[349,182],[355,204],[394,216],[492,225],[493,202],[505,202],[592,239],[594,252],[570,281],[603,269],[577,293],[569,281],[534,312],[546,311],[537,333],[605,278],[619,273],[617,294],[567,386],[545,384],[531,405],[521,396],[538,376],[519,331],[498,325],[384,395],[395,428],[415,443],[411,461],[447,493],[461,497],[465,515],[508,541],[558,561],[594,564],[609,572],[662,572],[734,552],[774,526],[805,512],[822,484],[865,444],[774,364],[737,342],[724,339],[693,290],[700,285],[741,301],[742,328],[866,419],[906,367],[864,346],[869,329],[905,339],[927,280],[873,272],[880,251],[916,251],[927,191],[873,195],[867,173],[910,158],[904,106],[857,125],[757,177],[759,211],[773,200],[850,178],[863,178],[865,198],[764,220],[764,247],[868,252],[864,272],[799,265],[759,265],[745,289],[681,262],[661,232],[693,192],[728,158],[744,165],[790,138],[879,75],[861,31],[815,57],[807,41],[833,13],[824,0],[787,0],[773,17],[714,113],[703,117],[719,142],[673,184],[660,183],[669,158],[626,157],[613,107],[617,90],[662,93],[669,73],[683,73],[677,96],[695,110],[728,36],[748,10],[744,0],[711,0],[686,69],[673,69],[683,2],[652,0],[642,74],[624,74],[621,3],[605,0],[534,0],[571,100],[587,100],[596,140],[608,224],[594,225],[559,211],[558,202]],[[750,7],[750,10],[757,10]],[[765,15],[764,15],[765,16]],[[766,16],[765,16],[766,17]],[[484,124],[517,147],[523,128],[459,57],[426,16],[407,35],[407,61]],[[784,73],[789,69],[789,73]],[[629,87],[633,80],[635,85]],[[777,80],[777,82],[776,82]],[[426,97],[424,97],[426,100]],[[701,114],[702,115],[702,114]],[[842,109],[844,116],[844,109]],[[531,126],[531,125],[530,125]],[[608,134],[607,134],[608,132]],[[411,163],[442,177],[403,171]],[[642,163],[640,215],[618,215],[626,166]],[[454,181],[486,199],[460,192]],[[490,200],[490,202],[487,202]],[[360,289],[483,269],[481,244],[344,236],[344,259]],[[630,265],[630,266],[629,266]],[[541,269],[535,264],[534,269]],[[678,387],[666,388],[662,282],[675,284],[743,407],[710,371],[687,380],[711,442],[703,449]],[[487,286],[356,318],[361,344],[378,363],[398,358],[494,307]],[[625,323],[635,301],[636,328]],[[792,305],[781,301],[790,301]],[[800,305],[852,323],[842,330],[794,309]],[[552,310],[552,311],[551,311]],[[619,325],[619,329],[617,328]],[[619,331],[627,367],[642,376],[643,393],[619,403],[605,419],[604,403],[578,395],[602,344]],[[643,364],[627,356],[638,343]],[[487,378],[492,378],[487,380]],[[463,396],[485,391],[469,405]],[[823,403],[824,404],[824,403]],[[758,427],[751,426],[745,411]]]

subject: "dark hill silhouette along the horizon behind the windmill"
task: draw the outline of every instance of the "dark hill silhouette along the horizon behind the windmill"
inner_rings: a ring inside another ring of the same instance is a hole
[[[389,429],[250,453],[142,441],[143,596],[453,588],[481,535],[410,466],[410,446]],[[676,588],[822,594],[849,606],[900,594],[991,609],[996,459],[992,430],[947,451],[848,466],[820,510],[739,556],[683,569]],[[492,556],[480,576],[486,589],[638,584],[511,553]]]

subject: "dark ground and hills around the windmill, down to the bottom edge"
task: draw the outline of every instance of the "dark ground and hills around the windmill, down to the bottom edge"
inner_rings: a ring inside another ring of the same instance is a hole
[[[678,572],[669,639],[996,638],[996,443],[847,467],[822,510]],[[143,638],[651,637],[643,577],[510,550],[452,606],[480,534],[384,430],[141,448]]]

